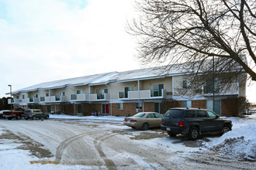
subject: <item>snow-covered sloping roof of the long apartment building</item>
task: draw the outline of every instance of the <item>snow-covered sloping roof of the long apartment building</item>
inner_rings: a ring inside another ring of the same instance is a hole
[[[39,83],[31,87],[15,90],[12,93],[29,92],[36,90],[49,90],[63,87],[75,87],[75,86],[96,86],[100,84],[107,84],[111,82],[129,82],[136,80],[150,80],[157,79],[166,76],[177,76],[187,74],[188,71],[184,70],[185,63],[174,64],[171,66],[157,66],[151,68],[145,68],[140,70],[130,70],[124,72],[111,72],[101,73],[90,76],[80,76],[65,80],[56,80],[46,83]],[[9,93],[6,93],[9,94]]]

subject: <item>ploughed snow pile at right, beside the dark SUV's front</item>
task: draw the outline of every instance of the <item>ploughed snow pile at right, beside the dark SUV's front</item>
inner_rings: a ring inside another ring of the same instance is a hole
[[[256,120],[253,118],[230,118],[233,129],[209,144],[209,151],[230,158],[256,161]]]

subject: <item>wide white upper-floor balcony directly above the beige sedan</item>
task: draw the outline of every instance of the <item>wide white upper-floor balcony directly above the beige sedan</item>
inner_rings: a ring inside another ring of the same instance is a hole
[[[166,90],[137,90],[118,93],[119,100],[138,100],[138,99],[161,99],[166,97]]]

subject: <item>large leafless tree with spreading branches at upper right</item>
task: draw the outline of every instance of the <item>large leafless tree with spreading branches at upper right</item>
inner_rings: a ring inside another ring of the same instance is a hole
[[[195,82],[196,75],[220,73],[256,81],[255,0],[141,0],[137,9],[128,32],[137,36],[142,63],[185,62]]]

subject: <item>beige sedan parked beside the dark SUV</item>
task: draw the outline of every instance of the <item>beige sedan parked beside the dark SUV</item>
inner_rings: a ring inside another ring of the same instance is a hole
[[[146,131],[149,128],[160,127],[162,118],[163,116],[156,112],[140,112],[132,117],[125,117],[123,124]]]

